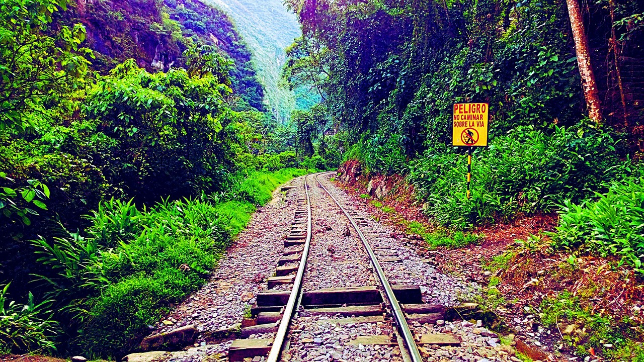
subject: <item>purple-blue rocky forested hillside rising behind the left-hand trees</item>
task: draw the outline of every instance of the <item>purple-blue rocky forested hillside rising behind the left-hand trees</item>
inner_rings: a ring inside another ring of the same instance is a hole
[[[85,26],[84,44],[94,51],[91,67],[106,73],[126,59],[148,71],[184,66],[182,53],[195,43],[219,48],[234,61],[232,89],[243,104],[263,111],[264,90],[247,49],[228,15],[201,1],[79,1],[56,16]],[[240,104],[238,107],[243,107]]]

